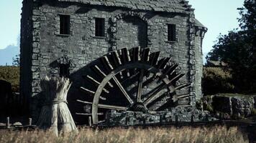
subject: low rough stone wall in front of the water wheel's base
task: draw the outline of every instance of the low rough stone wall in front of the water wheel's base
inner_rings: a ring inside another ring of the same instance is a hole
[[[108,121],[104,124],[114,125],[140,125],[156,124],[168,122],[201,122],[214,121],[216,118],[211,117],[210,112],[200,111],[193,108],[176,107],[171,111],[163,112],[109,112]]]

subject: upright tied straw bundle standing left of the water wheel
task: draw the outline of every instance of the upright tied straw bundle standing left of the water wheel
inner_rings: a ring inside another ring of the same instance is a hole
[[[64,77],[45,77],[40,81],[44,104],[37,125],[40,129],[51,129],[59,133],[78,132],[68,109],[67,94],[71,83]]]

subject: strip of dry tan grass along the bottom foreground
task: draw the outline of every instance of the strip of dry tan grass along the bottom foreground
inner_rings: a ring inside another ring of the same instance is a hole
[[[0,142],[248,142],[236,127],[149,128],[149,129],[79,129],[78,134],[55,137],[52,132],[1,131]]]

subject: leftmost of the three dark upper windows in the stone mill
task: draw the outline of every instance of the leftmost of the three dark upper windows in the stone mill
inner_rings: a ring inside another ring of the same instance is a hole
[[[60,34],[70,34],[70,16],[60,15]]]

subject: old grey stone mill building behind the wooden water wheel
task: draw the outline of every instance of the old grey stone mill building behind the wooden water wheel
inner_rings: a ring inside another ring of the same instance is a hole
[[[202,41],[207,31],[185,0],[23,0],[21,20],[21,94],[32,115],[40,78],[70,76],[108,51],[150,47],[173,56],[188,90],[201,98]]]

